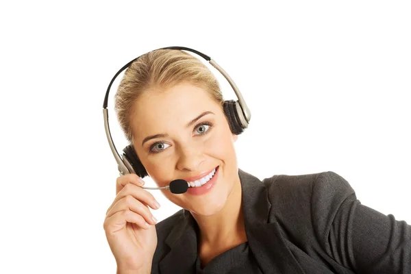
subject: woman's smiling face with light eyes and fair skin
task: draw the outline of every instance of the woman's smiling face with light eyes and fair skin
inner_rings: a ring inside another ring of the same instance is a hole
[[[239,178],[234,150],[237,136],[230,131],[219,103],[206,90],[184,83],[166,90],[149,90],[134,107],[133,145],[158,186],[208,173],[219,166],[215,184],[208,192],[176,195],[162,190],[167,199],[203,216],[221,210]],[[204,112],[207,114],[201,116]],[[158,134],[164,135],[147,140]]]

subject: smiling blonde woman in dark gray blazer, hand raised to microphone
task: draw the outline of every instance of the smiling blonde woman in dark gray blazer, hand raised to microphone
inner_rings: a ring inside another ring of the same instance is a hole
[[[343,177],[261,182],[238,169],[223,102],[184,51],[151,51],[127,69],[116,93],[125,136],[158,186],[190,188],[162,190],[183,210],[156,223],[142,179],[117,178],[104,229],[119,273],[411,273],[411,226],[362,206]]]

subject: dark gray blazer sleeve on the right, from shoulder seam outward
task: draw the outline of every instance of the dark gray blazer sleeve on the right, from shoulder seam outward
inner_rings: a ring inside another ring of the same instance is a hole
[[[364,206],[340,175],[312,185],[314,233],[326,253],[356,273],[411,273],[411,226]]]

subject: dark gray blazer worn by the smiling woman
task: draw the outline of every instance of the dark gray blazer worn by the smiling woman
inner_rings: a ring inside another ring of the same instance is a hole
[[[249,249],[262,273],[411,274],[411,226],[363,206],[340,175],[238,174]],[[195,225],[184,209],[156,225],[151,273],[195,273]]]

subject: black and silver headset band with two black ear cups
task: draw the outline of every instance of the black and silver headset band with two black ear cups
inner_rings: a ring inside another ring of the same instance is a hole
[[[238,88],[237,88],[236,84],[234,83],[234,81],[221,68],[221,66],[219,66],[208,55],[203,54],[199,51],[196,51],[195,49],[190,49],[188,47],[163,47],[163,48],[160,48],[160,49],[177,49],[177,50],[190,51],[192,53],[196,53],[197,55],[200,55],[202,58],[206,59],[212,66],[214,66],[214,68],[216,68],[225,77],[225,79],[227,79],[229,84],[234,89],[234,92],[236,92],[236,96],[238,98],[238,101],[227,100],[227,101],[224,101],[224,104],[223,104],[223,111],[225,113],[225,116],[227,117],[227,121],[229,123],[229,128],[231,129],[231,132],[233,134],[239,135],[244,131],[244,129],[246,129],[248,127],[249,121],[251,119],[251,112],[250,112],[249,108],[247,108],[247,105],[245,103],[245,100],[242,98],[240,90],[238,90]],[[155,49],[155,51],[156,50],[158,50],[158,49]],[[140,58],[140,56],[138,58]],[[107,110],[108,94],[110,92],[110,88],[111,88],[111,86],[114,82],[114,79],[116,79],[116,77],[119,76],[119,74],[122,71],[127,69],[138,58],[135,58],[134,60],[132,60],[132,61],[128,62],[127,64],[125,64],[125,66],[123,66],[116,73],[116,75],[114,75],[114,77],[110,81],[110,84],[108,85],[107,92],[105,92],[105,97],[104,97],[103,117],[104,117],[105,134],[107,135],[107,139],[108,139],[108,143],[110,145],[110,149],[112,150],[114,158],[116,159],[116,162],[118,164],[118,169],[119,169],[120,175],[135,173],[136,175],[138,175],[138,177],[143,178],[143,177],[147,176],[148,174],[147,174],[147,171],[146,171],[145,167],[140,162],[140,159],[138,158],[138,155],[136,154],[136,151],[135,151],[133,145],[132,144],[127,145],[127,147],[125,147],[125,149],[123,149],[122,157],[117,152],[116,147],[114,146],[114,142],[112,140],[112,136],[110,134],[110,127],[108,125],[108,110]]]

